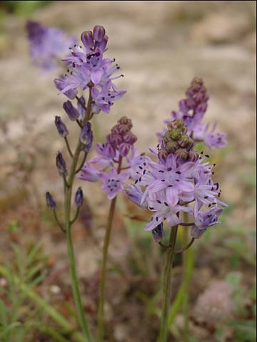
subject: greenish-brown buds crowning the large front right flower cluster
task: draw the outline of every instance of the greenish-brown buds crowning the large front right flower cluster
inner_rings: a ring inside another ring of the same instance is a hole
[[[193,139],[186,133],[186,126],[180,119],[173,120],[167,125],[168,130],[163,135],[161,144],[158,145],[158,158],[166,162],[168,155],[173,154],[179,160],[195,161],[198,159],[198,152],[193,150]]]

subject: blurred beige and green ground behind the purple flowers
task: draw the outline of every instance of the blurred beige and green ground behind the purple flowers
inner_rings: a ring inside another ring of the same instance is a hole
[[[221,224],[193,245],[191,342],[256,341],[255,11],[255,1],[1,1],[0,341],[76,341],[60,333],[49,314],[54,307],[76,326],[66,243],[44,202],[47,190],[62,200],[55,155],[64,145],[54,116],[64,118],[65,98],[53,83],[62,70],[41,71],[31,63],[29,19],[78,38],[96,24],[106,28],[106,54],[121,66],[125,77],[117,85],[127,93],[108,116],[94,119],[98,141],[126,115],[138,150],[147,151],[193,76],[203,78],[210,95],[206,123],[216,122],[228,135],[228,145],[209,154],[229,207]],[[69,130],[75,141],[75,128]],[[90,201],[74,226],[74,244],[94,331],[109,202],[100,184],[82,186]],[[128,211],[141,214],[121,195],[110,247],[106,341],[151,342],[158,335],[163,256],[143,222],[129,219]],[[173,299],[180,282],[178,256]],[[183,316],[179,306],[175,311],[170,341],[183,341]]]

